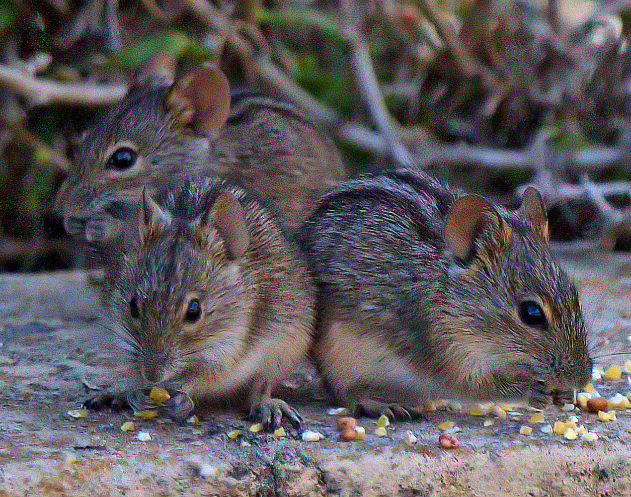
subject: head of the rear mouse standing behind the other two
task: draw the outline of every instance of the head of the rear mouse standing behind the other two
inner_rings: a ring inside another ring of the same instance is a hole
[[[127,96],[85,133],[56,202],[72,236],[115,239],[143,186],[206,164],[208,138],[230,111],[228,81],[211,65],[174,81],[174,68],[168,56],[146,59]]]

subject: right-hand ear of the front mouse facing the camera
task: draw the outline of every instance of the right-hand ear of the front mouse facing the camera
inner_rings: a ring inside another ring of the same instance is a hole
[[[239,200],[230,193],[221,193],[212,207],[201,216],[199,234],[208,243],[213,243],[217,238],[223,240],[230,259],[242,256],[250,246],[250,232]]]

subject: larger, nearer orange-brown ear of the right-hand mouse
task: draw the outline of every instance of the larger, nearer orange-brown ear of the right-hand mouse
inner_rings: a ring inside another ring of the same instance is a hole
[[[505,232],[504,221],[495,207],[479,195],[461,196],[445,219],[443,238],[447,249],[460,260],[468,261],[473,244],[487,227],[493,227],[500,234]]]

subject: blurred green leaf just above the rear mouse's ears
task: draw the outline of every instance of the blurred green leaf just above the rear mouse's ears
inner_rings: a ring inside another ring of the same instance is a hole
[[[192,63],[212,58],[211,51],[194,43],[184,33],[169,31],[127,45],[117,54],[110,56],[103,64],[103,69],[133,70],[152,54],[168,54],[175,60],[186,56]]]

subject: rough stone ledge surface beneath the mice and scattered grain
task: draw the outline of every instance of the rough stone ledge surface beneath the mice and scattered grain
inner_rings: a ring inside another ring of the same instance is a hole
[[[591,353],[603,366],[631,356],[631,262],[628,254],[563,261],[581,292]],[[584,412],[550,407],[553,424],[579,417],[594,443],[541,433],[532,412],[514,406],[505,419],[436,410],[415,423],[366,440],[339,442],[336,416],[308,365],[285,392],[325,438],[304,442],[248,431],[241,412],[205,413],[197,424],[135,420],[130,412],[74,419],[83,398],[117,385],[124,368],[98,299],[83,273],[0,276],[0,496],[631,496],[631,412],[600,422]],[[596,381],[604,397],[627,393],[619,381]],[[485,419],[491,426],[483,426]],[[461,446],[438,445],[444,421]],[[533,427],[519,434],[522,425]],[[227,433],[240,431],[232,440]],[[406,431],[418,442],[403,443]],[[139,431],[150,441],[138,440]]]

